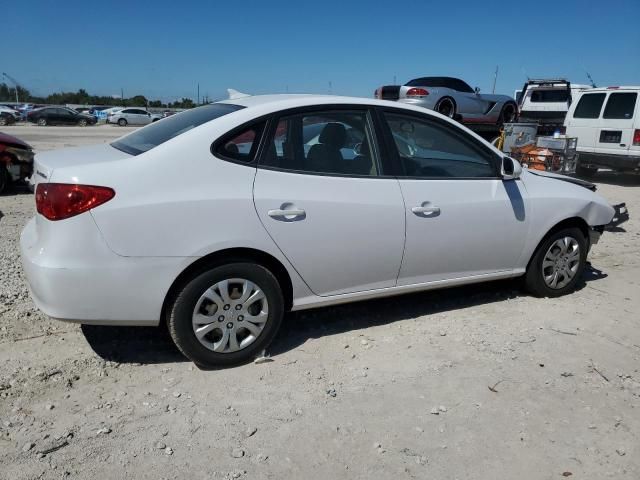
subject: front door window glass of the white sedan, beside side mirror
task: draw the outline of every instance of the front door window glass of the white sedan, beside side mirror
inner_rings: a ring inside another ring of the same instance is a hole
[[[404,175],[431,178],[495,177],[493,156],[453,127],[385,113]]]

